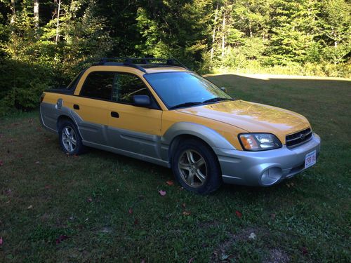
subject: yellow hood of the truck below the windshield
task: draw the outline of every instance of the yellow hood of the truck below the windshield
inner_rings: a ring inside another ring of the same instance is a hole
[[[244,100],[219,102],[178,111],[221,121],[250,133],[273,133],[282,142],[285,142],[287,134],[310,126],[307,119],[296,112]]]

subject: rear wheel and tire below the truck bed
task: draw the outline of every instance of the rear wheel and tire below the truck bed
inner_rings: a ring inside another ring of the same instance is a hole
[[[58,123],[58,140],[65,154],[79,155],[86,151],[77,126],[67,119]]]

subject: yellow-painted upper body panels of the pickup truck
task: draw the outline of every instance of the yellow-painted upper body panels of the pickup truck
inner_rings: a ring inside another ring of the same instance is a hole
[[[126,72],[139,76],[140,79],[143,79],[147,88],[150,89],[161,110],[79,97],[81,86],[86,76],[90,72],[95,71]],[[154,67],[146,69],[146,71],[147,73],[156,73],[187,70],[180,67]],[[62,98],[65,107],[73,109],[73,104],[79,104],[80,109],[74,109],[74,111],[84,121],[150,135],[164,135],[168,128],[180,121],[197,123],[216,130],[237,149],[241,149],[237,138],[239,133],[273,133],[284,144],[286,135],[310,127],[307,119],[295,112],[242,100],[168,111],[165,104],[157,96],[157,93],[143,78],[144,74],[144,72],[133,67],[93,66],[84,72],[74,91],[75,96],[46,93],[44,102],[55,104],[58,98]],[[112,118],[111,112],[118,112],[119,118]]]

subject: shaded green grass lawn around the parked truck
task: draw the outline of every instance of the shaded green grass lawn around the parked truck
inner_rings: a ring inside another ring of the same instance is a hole
[[[0,262],[351,262],[351,81],[208,79],[305,115],[322,137],[317,165],[274,187],[197,196],[150,163],[66,156],[38,112],[7,117]]]

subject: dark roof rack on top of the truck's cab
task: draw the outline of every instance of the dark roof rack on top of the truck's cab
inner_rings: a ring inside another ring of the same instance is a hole
[[[185,67],[185,65],[180,63],[175,58],[101,58],[97,65],[105,65],[109,62],[117,63],[117,65],[134,67],[135,69],[139,69],[142,72],[146,72],[146,70],[143,68],[143,65],[183,67],[185,69],[188,69]]]

